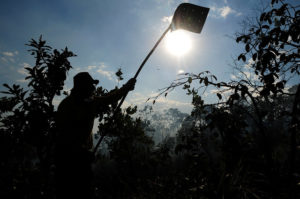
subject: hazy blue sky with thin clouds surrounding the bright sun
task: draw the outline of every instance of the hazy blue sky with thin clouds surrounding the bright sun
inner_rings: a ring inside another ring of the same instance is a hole
[[[221,80],[231,77],[232,58],[241,52],[234,39],[240,22],[266,0],[1,0],[0,1],[0,83],[26,85],[24,66],[34,58],[24,44],[40,35],[53,48],[67,46],[77,54],[70,59],[65,89],[72,78],[88,71],[107,89],[117,85],[114,73],[121,68],[125,80],[134,76],[139,65],[169,25],[169,17],[182,2],[210,8],[201,34],[187,33],[192,49],[176,57],[166,49],[165,40],[144,66],[136,89],[126,104],[145,105],[146,100],[178,78],[179,72],[210,70]],[[123,84],[120,82],[119,84]],[[55,103],[59,103],[57,98]],[[191,98],[182,89],[154,108],[174,107],[188,112]],[[125,105],[126,105],[125,104]]]

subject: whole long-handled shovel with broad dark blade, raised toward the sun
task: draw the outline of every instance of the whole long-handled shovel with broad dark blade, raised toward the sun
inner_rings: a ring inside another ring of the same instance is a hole
[[[177,7],[177,9],[175,10],[175,13],[174,13],[171,24],[165,30],[165,32],[162,34],[162,36],[158,39],[158,41],[155,43],[155,45],[151,49],[151,51],[148,53],[148,55],[146,56],[146,58],[144,59],[144,61],[140,65],[139,69],[135,73],[134,78],[135,79],[137,78],[137,76],[141,72],[143,66],[145,65],[145,63],[147,62],[149,57],[152,55],[152,53],[154,52],[154,50],[156,49],[158,44],[165,37],[165,35],[167,34],[167,32],[169,30],[175,31],[175,30],[178,30],[178,29],[183,29],[183,30],[187,30],[189,32],[194,32],[194,33],[199,34],[202,31],[202,28],[203,28],[204,23],[206,21],[208,12],[209,12],[209,8],[197,6],[197,5],[190,4],[190,3],[180,4]],[[115,109],[114,113],[122,106],[127,94],[128,93],[126,93],[126,95],[123,96],[123,98],[121,99],[121,101],[118,104],[117,108]],[[103,134],[101,136],[101,138],[99,139],[97,145],[95,146],[94,153],[96,153],[97,148],[101,144],[104,136],[105,136],[105,134]]]

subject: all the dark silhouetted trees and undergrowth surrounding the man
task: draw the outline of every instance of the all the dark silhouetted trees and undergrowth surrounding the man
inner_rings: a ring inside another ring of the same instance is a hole
[[[234,62],[236,79],[186,73],[153,99],[182,86],[193,97],[176,137],[155,145],[152,121],[134,117],[137,107],[113,119],[117,103],[99,110],[96,137],[106,137],[93,164],[95,198],[300,197],[300,10],[271,3],[236,36],[245,46]],[[52,51],[42,38],[28,46],[36,63],[26,68],[27,90],[4,84],[0,100],[1,198],[55,198],[52,102],[75,55]],[[297,84],[288,87],[291,77]],[[218,102],[207,104],[201,95],[212,88]]]

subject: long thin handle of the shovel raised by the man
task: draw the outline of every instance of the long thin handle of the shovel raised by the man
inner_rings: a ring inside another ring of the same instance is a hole
[[[154,47],[151,49],[151,51],[148,53],[148,55],[146,56],[146,58],[144,59],[144,61],[142,62],[142,64],[140,65],[139,69],[137,70],[137,72],[135,73],[134,77],[133,78],[137,78],[137,76],[139,75],[139,73],[141,72],[141,70],[143,69],[145,63],[148,61],[149,57],[152,55],[152,53],[154,52],[154,50],[156,49],[156,47],[158,46],[158,44],[161,42],[161,40],[166,36],[167,32],[171,29],[172,27],[172,23],[169,25],[169,27],[165,30],[165,32],[161,35],[161,37],[158,39],[158,41],[155,43]],[[115,113],[117,112],[117,110],[119,108],[121,108],[126,96],[127,96],[128,92],[122,97],[120,103],[118,104],[117,108],[114,110],[114,113],[113,113],[113,116],[115,115]],[[101,144],[104,136],[106,134],[102,134],[102,136],[100,137],[98,143],[96,144],[95,146],[95,149],[94,149],[94,154],[97,152],[97,149],[99,147],[99,145]]]

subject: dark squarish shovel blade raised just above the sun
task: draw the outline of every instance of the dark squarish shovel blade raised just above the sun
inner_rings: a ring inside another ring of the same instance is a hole
[[[173,16],[172,31],[184,29],[194,33],[200,33],[207,18],[209,8],[190,3],[180,4]]]

